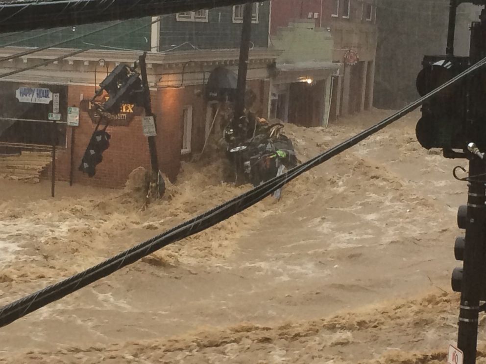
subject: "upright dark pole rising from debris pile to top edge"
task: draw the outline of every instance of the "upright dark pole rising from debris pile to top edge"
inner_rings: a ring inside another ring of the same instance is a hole
[[[238,125],[244,115],[244,96],[246,91],[246,73],[248,71],[248,56],[250,52],[251,17],[253,5],[251,2],[243,8],[243,29],[240,44],[240,63],[238,65],[238,84],[236,87],[235,115],[233,122]]]

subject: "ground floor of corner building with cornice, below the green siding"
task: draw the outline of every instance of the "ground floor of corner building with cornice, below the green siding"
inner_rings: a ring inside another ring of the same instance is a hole
[[[2,48],[0,57],[18,49]],[[24,68],[45,59],[56,58],[66,49],[49,49],[0,67],[0,72]],[[0,85],[0,147],[21,150],[50,150],[54,128],[57,130],[56,177],[62,181],[92,184],[103,187],[121,187],[130,172],[139,167],[149,168],[147,138],[143,134],[143,109],[124,105],[119,114],[110,119],[107,132],[111,135],[110,147],[97,165],[97,173],[89,178],[78,170],[84,151],[96,129],[96,114],[89,100],[94,96],[95,73],[99,69],[113,69],[117,64],[133,65],[140,52],[103,51],[84,52],[57,64],[33,69],[5,80]],[[267,113],[269,71],[278,53],[267,48],[250,51],[248,85],[255,93],[253,108]],[[192,59],[188,65],[186,60]],[[238,67],[238,50],[185,51],[170,53],[151,52],[147,55],[148,79],[152,109],[157,120],[156,145],[161,171],[174,181],[186,155],[201,151],[214,118],[214,102],[204,96],[204,80],[218,67],[235,71]],[[98,75],[99,76],[99,75]],[[49,120],[54,105],[49,95],[46,102],[30,101],[19,97],[19,90],[32,89],[60,95],[61,118],[54,126]],[[68,126],[68,107],[80,109],[79,125]],[[100,128],[104,125],[101,124]],[[44,169],[50,176],[50,165]]]

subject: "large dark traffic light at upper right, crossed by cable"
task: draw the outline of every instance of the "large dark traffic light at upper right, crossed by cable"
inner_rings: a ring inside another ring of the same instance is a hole
[[[467,69],[468,57],[425,56],[422,65],[416,86],[420,96],[425,96]],[[423,103],[415,132],[424,148],[467,148],[466,97],[466,83],[459,81]]]

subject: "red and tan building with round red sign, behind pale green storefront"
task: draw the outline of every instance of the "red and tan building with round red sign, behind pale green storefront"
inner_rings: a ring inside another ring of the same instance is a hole
[[[333,62],[340,64],[333,76],[330,120],[358,113],[373,105],[377,44],[375,0],[279,0],[271,11],[271,35],[293,19],[307,19],[329,28],[333,37]],[[351,51],[351,52],[350,52]],[[357,55],[349,64],[346,55]]]

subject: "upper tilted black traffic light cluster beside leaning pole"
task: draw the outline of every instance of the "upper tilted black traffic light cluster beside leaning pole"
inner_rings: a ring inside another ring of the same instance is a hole
[[[94,98],[106,91],[109,98],[106,102],[99,105],[101,111],[110,114],[117,114],[121,104],[141,105],[143,97],[142,80],[140,74],[126,65],[118,65],[113,71],[99,84],[100,89]]]

